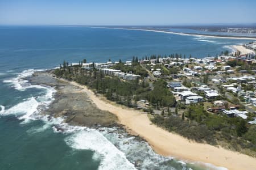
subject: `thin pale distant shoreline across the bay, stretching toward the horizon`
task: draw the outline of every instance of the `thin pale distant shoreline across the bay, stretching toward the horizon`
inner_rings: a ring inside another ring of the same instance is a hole
[[[135,31],[150,31],[150,32],[160,32],[169,33],[181,36],[193,36],[193,37],[209,37],[216,39],[237,39],[237,40],[256,40],[256,37],[236,37],[236,36],[217,36],[217,35],[200,35],[195,33],[181,33],[181,32],[171,32],[171,31],[160,31],[156,29],[139,29],[139,28],[115,28],[115,27],[89,27],[89,26],[76,26],[76,25],[64,25],[64,27],[86,27],[86,28],[105,28],[105,29],[125,29],[125,30],[135,30]]]

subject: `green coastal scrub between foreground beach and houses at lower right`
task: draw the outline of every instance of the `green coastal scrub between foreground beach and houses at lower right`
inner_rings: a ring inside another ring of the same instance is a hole
[[[151,121],[196,142],[222,145],[241,152],[249,150],[249,155],[256,156],[255,125],[247,125],[248,120],[240,117],[230,118],[224,114],[208,113],[203,104],[189,105],[181,117],[176,114],[167,118],[155,115]]]

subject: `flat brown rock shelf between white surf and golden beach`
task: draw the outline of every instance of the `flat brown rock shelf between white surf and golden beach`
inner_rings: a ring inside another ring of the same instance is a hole
[[[57,90],[55,100],[42,114],[64,117],[65,122],[71,125],[94,128],[117,126],[118,119],[114,114],[98,109],[81,88],[53,77],[51,71],[36,72],[29,80],[31,84],[51,86]]]

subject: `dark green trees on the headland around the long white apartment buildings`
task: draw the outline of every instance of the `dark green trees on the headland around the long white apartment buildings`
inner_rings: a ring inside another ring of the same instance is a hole
[[[138,71],[143,70],[143,68],[137,64],[135,67],[128,67],[123,63],[118,63],[114,68],[131,69],[137,73],[143,73],[143,71]],[[136,108],[137,101],[140,99],[148,100],[156,107],[174,107],[176,104],[175,97],[168,90],[167,83],[162,79],[154,82],[154,90],[151,90],[149,84],[144,80],[125,81],[105,76],[97,69],[85,70],[82,69],[81,65],[68,66],[67,62],[64,62],[60,69],[55,69],[54,74],[57,77],[84,84],[104,95],[107,99],[127,107]]]

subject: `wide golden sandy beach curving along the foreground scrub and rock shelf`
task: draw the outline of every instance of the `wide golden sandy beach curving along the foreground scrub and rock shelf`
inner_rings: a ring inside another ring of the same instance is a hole
[[[221,147],[188,141],[180,135],[153,125],[145,113],[113,105],[109,101],[100,99],[87,87],[76,82],[71,84],[82,88],[98,108],[114,113],[119,123],[125,125],[127,131],[146,139],[158,154],[175,156],[175,158],[192,162],[210,163],[234,170],[256,168],[255,158]]]

